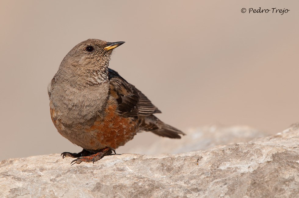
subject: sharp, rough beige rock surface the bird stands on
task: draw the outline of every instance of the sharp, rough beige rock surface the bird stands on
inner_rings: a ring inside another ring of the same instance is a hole
[[[0,197],[298,197],[299,124],[205,151],[71,160],[51,154],[2,161]]]

